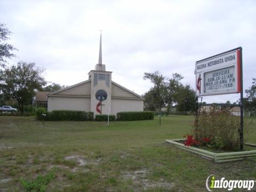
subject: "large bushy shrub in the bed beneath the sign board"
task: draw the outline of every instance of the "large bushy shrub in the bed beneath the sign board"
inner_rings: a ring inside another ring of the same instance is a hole
[[[240,118],[231,116],[227,111],[211,109],[209,113],[202,111],[196,117],[193,134],[200,141],[209,138],[208,146],[216,149],[239,149]]]

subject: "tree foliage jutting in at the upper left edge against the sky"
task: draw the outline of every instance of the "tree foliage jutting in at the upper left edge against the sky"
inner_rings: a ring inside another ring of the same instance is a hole
[[[13,45],[6,43],[9,39],[11,31],[5,27],[3,23],[0,23],[0,67],[5,67],[6,60],[4,58],[15,57],[11,51],[17,50]]]

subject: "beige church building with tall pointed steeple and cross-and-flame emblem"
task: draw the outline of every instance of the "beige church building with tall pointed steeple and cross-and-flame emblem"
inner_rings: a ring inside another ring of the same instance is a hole
[[[99,63],[88,75],[84,82],[48,94],[47,110],[93,111],[94,115],[143,111],[144,98],[113,82],[112,71],[106,71],[106,65],[102,64],[101,35]]]

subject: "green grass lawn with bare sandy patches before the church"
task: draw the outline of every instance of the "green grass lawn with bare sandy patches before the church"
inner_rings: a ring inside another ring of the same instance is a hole
[[[165,143],[189,133],[193,118],[43,126],[0,116],[0,191],[206,191],[210,174],[256,180],[255,158],[215,164]],[[247,121],[247,141],[256,143],[256,118]]]

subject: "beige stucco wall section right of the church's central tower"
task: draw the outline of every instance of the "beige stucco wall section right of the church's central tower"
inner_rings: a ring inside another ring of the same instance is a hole
[[[143,100],[112,99],[110,110],[113,115],[121,111],[143,111]]]

